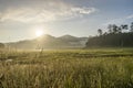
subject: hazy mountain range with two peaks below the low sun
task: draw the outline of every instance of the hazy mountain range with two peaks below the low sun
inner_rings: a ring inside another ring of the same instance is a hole
[[[52,48],[81,48],[85,46],[88,37],[76,37],[72,35],[63,35],[55,37],[49,34],[42,35],[34,40],[24,40],[6,45],[11,48],[20,50],[52,50]]]

